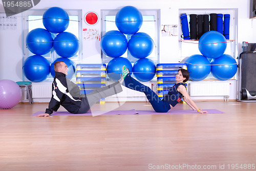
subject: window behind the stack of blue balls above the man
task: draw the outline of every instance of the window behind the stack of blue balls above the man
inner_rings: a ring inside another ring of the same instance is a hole
[[[42,23],[42,15],[44,15],[46,10],[28,10],[23,13],[23,26],[24,26],[24,32],[23,32],[23,50],[24,50],[24,57],[23,61],[26,60],[29,56],[34,55],[32,52],[28,50],[26,47],[26,37],[28,33],[36,28],[43,28],[45,29],[43,23]],[[66,10],[69,14],[69,27],[65,30],[65,32],[73,33],[79,40],[79,49],[75,56],[70,57],[74,63],[76,63],[79,60],[82,60],[82,11],[81,10]],[[56,37],[57,34],[52,33],[53,38]],[[52,63],[55,59],[59,58],[56,54],[56,52],[51,49],[51,51],[44,56],[50,63]],[[49,74],[48,79],[52,79],[51,74]]]

